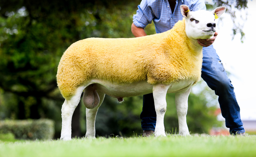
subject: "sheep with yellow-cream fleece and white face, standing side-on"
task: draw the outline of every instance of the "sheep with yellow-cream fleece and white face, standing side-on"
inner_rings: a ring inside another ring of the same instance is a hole
[[[196,39],[213,37],[215,18],[226,8],[218,7],[212,12],[193,12],[186,5],[180,8],[183,20],[164,33],[136,38],[88,38],[67,48],[57,71],[57,84],[65,98],[60,139],[71,140],[72,115],[83,91],[88,138],[95,138],[95,118],[105,94],[121,102],[123,97],[152,92],[155,136],[166,136],[167,93],[175,93],[179,135],[189,135],[187,100],[192,85],[201,78],[202,68],[202,46]]]

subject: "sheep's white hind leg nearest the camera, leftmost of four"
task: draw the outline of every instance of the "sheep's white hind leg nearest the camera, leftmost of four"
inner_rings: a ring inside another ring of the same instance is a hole
[[[67,141],[71,140],[71,120],[72,115],[80,102],[80,97],[83,92],[84,87],[78,87],[77,91],[71,99],[65,99],[62,108],[61,108],[61,118],[62,118],[62,126],[61,126],[61,137],[60,139]]]

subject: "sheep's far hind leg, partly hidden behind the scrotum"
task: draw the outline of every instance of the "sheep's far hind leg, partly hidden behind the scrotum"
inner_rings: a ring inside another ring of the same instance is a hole
[[[86,108],[86,138],[95,138],[95,119],[101,103],[104,100],[105,93],[101,91],[96,91],[99,96],[99,104],[93,109]]]

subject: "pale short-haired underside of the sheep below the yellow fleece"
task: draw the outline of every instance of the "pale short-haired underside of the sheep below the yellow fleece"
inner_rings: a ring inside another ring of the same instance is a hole
[[[187,91],[187,89],[195,82],[195,80],[179,80],[170,84],[167,93],[176,93],[179,91]],[[133,97],[153,92],[153,85],[147,81],[133,83],[116,83],[100,79],[90,81],[90,84],[96,85],[98,91],[112,97]]]

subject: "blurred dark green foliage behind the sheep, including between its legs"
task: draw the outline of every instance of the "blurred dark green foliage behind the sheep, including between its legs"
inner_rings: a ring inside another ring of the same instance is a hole
[[[56,84],[61,55],[69,45],[88,37],[133,37],[132,16],[140,0],[1,0],[0,1],[0,120],[50,118],[56,138],[61,129],[64,102]],[[146,27],[154,34],[153,24]],[[192,133],[207,133],[220,123],[215,107],[199,94],[190,94],[187,123]],[[142,133],[139,115],[142,96],[124,103],[106,96],[98,111],[99,136]],[[178,132],[174,95],[167,95],[166,131]],[[80,111],[79,111],[80,109]],[[85,108],[78,106],[78,123],[86,132]],[[81,125],[80,125],[81,124]]]

